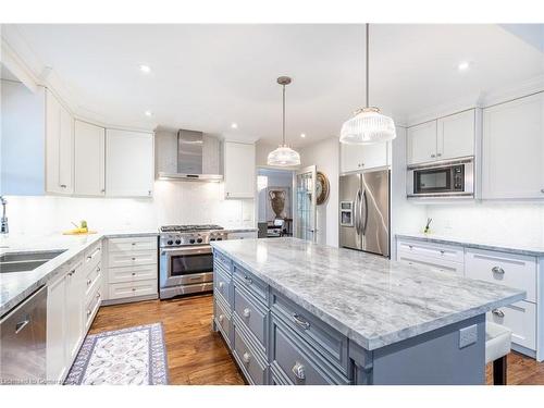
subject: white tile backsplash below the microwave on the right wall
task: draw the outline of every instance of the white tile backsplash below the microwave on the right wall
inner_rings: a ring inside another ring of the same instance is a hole
[[[471,202],[426,206],[432,233],[459,238],[544,245],[544,203]]]

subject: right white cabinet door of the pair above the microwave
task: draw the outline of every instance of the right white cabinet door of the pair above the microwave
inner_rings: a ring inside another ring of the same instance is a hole
[[[447,160],[473,156],[474,136],[474,109],[438,119],[436,158]]]

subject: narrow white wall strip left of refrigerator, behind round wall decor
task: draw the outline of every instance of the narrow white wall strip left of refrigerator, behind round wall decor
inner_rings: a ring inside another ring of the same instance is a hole
[[[329,199],[318,206],[318,243],[338,246],[338,177],[339,177],[339,143],[337,137],[300,149],[301,166],[316,164],[331,184]]]

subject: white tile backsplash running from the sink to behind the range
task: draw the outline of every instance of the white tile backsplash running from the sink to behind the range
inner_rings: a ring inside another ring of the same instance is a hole
[[[11,234],[45,235],[86,220],[89,228],[156,230],[162,224],[254,226],[254,200],[224,199],[223,183],[154,183],[153,198],[8,196]]]

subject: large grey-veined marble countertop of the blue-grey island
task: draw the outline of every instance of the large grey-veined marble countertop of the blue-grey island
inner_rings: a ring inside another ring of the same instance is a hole
[[[526,297],[520,289],[297,238],[212,246],[368,350]]]

